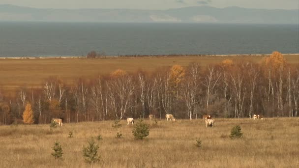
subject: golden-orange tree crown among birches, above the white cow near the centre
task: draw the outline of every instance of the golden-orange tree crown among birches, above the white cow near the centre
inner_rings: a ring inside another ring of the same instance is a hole
[[[174,65],[170,69],[170,80],[175,88],[178,88],[179,83],[185,76],[185,70],[180,65]]]

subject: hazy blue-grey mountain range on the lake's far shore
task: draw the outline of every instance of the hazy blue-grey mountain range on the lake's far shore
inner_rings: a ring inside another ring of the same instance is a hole
[[[168,10],[51,9],[0,4],[0,21],[299,24],[299,10],[210,6]]]

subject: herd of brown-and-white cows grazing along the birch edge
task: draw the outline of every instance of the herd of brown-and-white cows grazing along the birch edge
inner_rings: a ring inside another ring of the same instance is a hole
[[[155,116],[153,114],[149,115],[149,120],[153,120],[155,118]],[[253,119],[264,119],[264,117],[262,115],[259,114],[254,114]],[[166,114],[165,115],[165,119],[166,121],[176,121],[176,118],[174,117],[173,114]],[[213,127],[215,120],[212,119],[212,116],[210,115],[203,115],[203,119],[206,122],[206,127]],[[52,119],[53,122],[57,123],[59,126],[62,126],[62,119],[60,118],[53,118]],[[133,125],[134,124],[134,118],[127,118],[127,125]]]

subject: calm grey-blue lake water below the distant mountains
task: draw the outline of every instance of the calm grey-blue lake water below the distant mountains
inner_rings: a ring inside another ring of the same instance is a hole
[[[0,56],[299,53],[299,25],[0,22]]]

